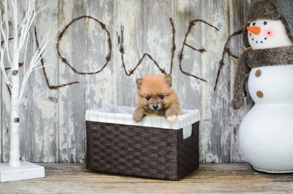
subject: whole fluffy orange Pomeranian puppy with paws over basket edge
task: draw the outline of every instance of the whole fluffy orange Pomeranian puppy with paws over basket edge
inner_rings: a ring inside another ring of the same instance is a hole
[[[145,116],[163,116],[174,123],[178,115],[182,115],[179,108],[177,94],[171,88],[171,76],[147,75],[136,80],[138,103],[133,114],[135,123]]]

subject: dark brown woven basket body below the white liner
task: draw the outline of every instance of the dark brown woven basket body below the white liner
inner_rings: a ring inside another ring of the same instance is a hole
[[[177,181],[199,168],[199,121],[192,135],[161,129],[86,121],[86,168]]]

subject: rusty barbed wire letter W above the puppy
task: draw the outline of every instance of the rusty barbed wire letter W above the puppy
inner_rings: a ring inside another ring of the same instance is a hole
[[[169,73],[169,74],[166,73],[165,68],[162,69],[162,68],[158,65],[158,63],[157,63],[157,62],[156,62],[156,61],[155,61],[155,60],[154,60],[149,54],[147,54],[147,53],[145,53],[145,54],[142,56],[142,58],[139,60],[138,64],[135,66],[135,68],[134,68],[134,69],[131,69],[131,71],[128,70],[129,73],[127,73],[126,68],[125,68],[125,64],[124,64],[124,59],[123,59],[123,54],[125,53],[125,52],[124,52],[124,45],[123,45],[123,31],[124,31],[124,26],[121,25],[120,53],[121,53],[121,59],[122,59],[122,67],[124,68],[124,71],[125,71],[126,75],[130,76],[131,74],[133,74],[134,71],[135,71],[135,69],[138,67],[138,65],[141,64],[141,61],[144,59],[145,56],[148,56],[149,59],[151,59],[151,60],[155,63],[155,65],[157,65],[157,67],[158,67],[159,70],[162,72],[162,74],[165,74],[165,75],[171,75],[171,74],[172,74],[174,52],[175,52],[175,50],[176,50],[176,45],[175,45],[175,28],[174,28],[174,24],[173,24],[173,20],[172,20],[172,18],[170,18],[170,23],[171,23],[171,25],[172,25],[172,32],[173,32],[173,39],[172,39],[172,41],[173,41],[173,47],[172,47],[172,50],[171,50],[171,52],[172,52],[172,59],[171,59],[171,68],[170,68],[170,73]]]

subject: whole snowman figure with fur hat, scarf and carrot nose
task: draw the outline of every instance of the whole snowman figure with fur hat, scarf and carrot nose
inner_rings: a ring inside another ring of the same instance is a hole
[[[248,89],[255,105],[239,128],[243,155],[254,169],[293,172],[293,0],[256,0],[245,16],[246,47],[239,56],[233,87],[234,109]]]

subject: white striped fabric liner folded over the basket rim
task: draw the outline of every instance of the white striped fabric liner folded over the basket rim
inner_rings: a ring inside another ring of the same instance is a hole
[[[177,117],[175,123],[170,123],[165,117],[146,116],[139,123],[132,119],[136,107],[129,106],[107,106],[105,108],[87,110],[85,119],[101,123],[116,123],[123,125],[135,125],[156,127],[163,129],[182,129],[183,138],[188,138],[192,133],[192,124],[200,120],[199,110],[183,110],[183,115]]]

